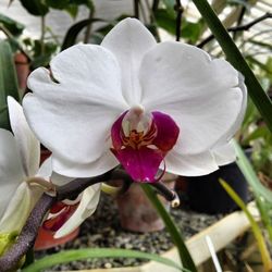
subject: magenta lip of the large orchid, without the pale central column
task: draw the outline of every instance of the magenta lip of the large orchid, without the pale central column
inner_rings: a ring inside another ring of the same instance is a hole
[[[171,116],[162,112],[152,112],[152,122],[156,126],[156,137],[151,143],[138,148],[125,146],[123,140],[123,113],[111,128],[113,154],[135,182],[157,182],[156,174],[166,153],[174,147],[180,128]],[[146,134],[148,135],[148,133]]]

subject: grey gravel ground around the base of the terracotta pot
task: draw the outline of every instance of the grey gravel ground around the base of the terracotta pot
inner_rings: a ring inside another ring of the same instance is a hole
[[[222,217],[196,213],[186,208],[172,209],[171,213],[176,224],[183,230],[186,238],[213,224]],[[120,225],[115,201],[111,197],[103,195],[96,213],[83,223],[79,236],[76,239],[49,250],[38,251],[35,258],[38,259],[63,249],[99,247],[137,249],[162,254],[172,246],[170,235],[164,230],[144,234],[123,231]],[[55,265],[48,271],[134,267],[144,262],[138,259],[103,258]]]

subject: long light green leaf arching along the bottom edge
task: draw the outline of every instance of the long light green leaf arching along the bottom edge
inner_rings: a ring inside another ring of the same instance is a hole
[[[153,254],[146,254],[137,250],[115,249],[115,248],[87,248],[76,250],[65,250],[37,260],[29,267],[23,269],[23,272],[40,272],[44,269],[50,268],[54,264],[66,263],[76,260],[91,259],[91,258],[139,258],[163,263],[165,265],[175,268],[180,271],[182,269],[174,261],[160,257]]]

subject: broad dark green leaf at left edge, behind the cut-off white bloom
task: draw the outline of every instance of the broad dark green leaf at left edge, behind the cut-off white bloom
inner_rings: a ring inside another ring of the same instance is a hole
[[[0,127],[11,131],[7,97],[12,96],[17,101],[20,97],[13,55],[7,41],[0,42]]]

